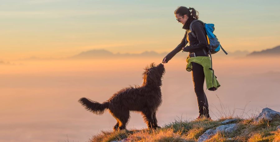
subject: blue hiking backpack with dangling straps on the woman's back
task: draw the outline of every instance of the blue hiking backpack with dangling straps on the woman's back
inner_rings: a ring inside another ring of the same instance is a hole
[[[190,26],[189,26],[189,30],[190,30],[191,34],[193,35],[193,37],[197,38],[196,35],[194,34],[194,32],[192,32],[193,31],[192,25],[195,21],[200,21],[200,20],[197,20],[197,19],[193,20],[191,22]],[[214,82],[213,82],[213,80],[214,80],[214,69],[212,69],[212,56],[211,56],[211,54],[215,54],[218,51],[220,51],[220,49],[222,48],[222,45],[218,41],[217,36],[213,34],[213,31],[215,30],[214,24],[206,24],[203,21],[200,21],[200,22],[203,23],[203,26],[204,26],[205,31],[206,31],[206,38],[207,38],[207,42],[208,42],[207,49],[208,49],[208,54],[210,55],[210,58],[211,58],[211,68],[209,68],[209,69],[213,71],[212,83],[214,84]],[[222,50],[227,55],[226,51],[223,48],[222,48]],[[203,48],[203,52],[204,52],[204,54],[206,54],[204,48]],[[213,90],[213,91],[215,91],[215,90]]]

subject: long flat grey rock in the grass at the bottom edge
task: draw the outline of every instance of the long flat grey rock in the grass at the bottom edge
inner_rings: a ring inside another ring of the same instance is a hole
[[[206,132],[204,132],[201,136],[198,138],[198,142],[203,142],[205,140],[210,139],[212,135],[215,135],[217,132],[225,132],[225,133],[232,133],[237,129],[237,124],[227,124],[227,125],[221,125],[216,128],[216,130],[209,129]]]

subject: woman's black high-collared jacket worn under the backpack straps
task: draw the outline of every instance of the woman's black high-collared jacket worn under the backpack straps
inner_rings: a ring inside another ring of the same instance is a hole
[[[196,56],[209,56],[208,54],[204,54],[203,48],[207,53],[207,37],[206,37],[206,31],[201,22],[194,22],[192,25],[193,31],[195,35],[197,36],[197,39],[193,37],[192,34],[190,34],[189,26],[191,21],[193,21],[193,18],[189,18],[184,26],[183,29],[186,30],[185,35],[183,39],[181,40],[181,43],[172,50],[169,54],[166,55],[166,63],[175,56],[178,52],[182,50],[184,46],[187,45],[189,42],[189,46],[185,47],[184,50],[190,53],[195,53]]]

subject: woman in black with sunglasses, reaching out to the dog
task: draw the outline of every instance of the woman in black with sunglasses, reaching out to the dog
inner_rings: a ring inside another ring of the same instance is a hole
[[[192,32],[195,33],[197,38],[194,38],[192,34],[190,34],[190,23],[194,19],[198,19],[198,15],[196,15],[196,13],[198,12],[194,8],[178,7],[175,10],[174,14],[176,20],[184,25],[183,29],[185,29],[186,32],[184,38],[181,40],[181,43],[166,55],[162,63],[167,63],[175,54],[177,54],[181,50],[189,52],[189,57],[194,57],[194,54],[195,56],[209,56],[208,53],[205,52],[208,51],[208,42],[206,39],[206,31],[203,23],[196,21],[192,25]],[[189,46],[185,47],[188,42]],[[202,65],[195,62],[192,63],[192,78],[194,83],[194,92],[197,96],[199,109],[199,116],[197,119],[200,119],[201,117],[211,119],[209,116],[207,97],[203,90],[205,76]]]

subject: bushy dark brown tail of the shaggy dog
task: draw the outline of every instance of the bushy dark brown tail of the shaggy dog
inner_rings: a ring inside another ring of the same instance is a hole
[[[101,115],[104,113],[105,109],[108,108],[108,103],[109,102],[104,102],[100,104],[99,102],[92,101],[88,98],[80,98],[79,101],[82,106],[85,107],[86,110],[91,111],[97,115]]]

